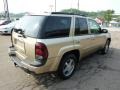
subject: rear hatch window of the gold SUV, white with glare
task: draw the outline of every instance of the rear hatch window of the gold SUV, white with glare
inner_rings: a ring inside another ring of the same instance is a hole
[[[44,19],[44,16],[25,16],[17,22],[15,28],[22,29],[26,36],[36,38]]]

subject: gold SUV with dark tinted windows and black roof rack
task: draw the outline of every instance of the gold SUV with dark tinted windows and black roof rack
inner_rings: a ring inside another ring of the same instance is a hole
[[[21,18],[11,41],[9,56],[15,65],[36,74],[57,71],[68,79],[81,58],[97,50],[107,53],[111,37],[93,19],[52,13]]]

